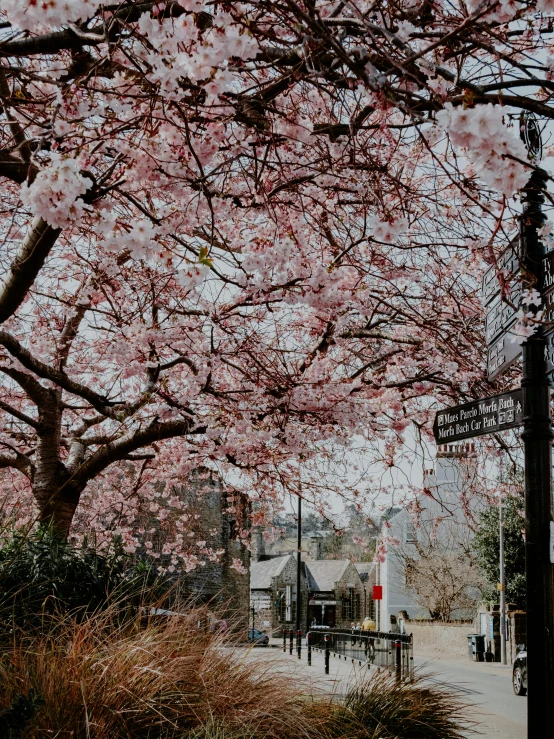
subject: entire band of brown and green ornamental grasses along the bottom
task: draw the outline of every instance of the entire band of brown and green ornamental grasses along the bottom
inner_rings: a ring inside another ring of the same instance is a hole
[[[142,611],[144,614],[144,610]],[[388,672],[344,700],[209,629],[213,614],[44,615],[0,648],[1,739],[462,739],[459,696]]]

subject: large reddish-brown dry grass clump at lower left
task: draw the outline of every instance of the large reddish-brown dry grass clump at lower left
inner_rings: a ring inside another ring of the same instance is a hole
[[[0,658],[0,708],[30,690],[43,701],[26,739],[287,739],[321,736],[302,686],[244,664],[209,633],[201,608],[116,625],[110,612],[66,617]]]

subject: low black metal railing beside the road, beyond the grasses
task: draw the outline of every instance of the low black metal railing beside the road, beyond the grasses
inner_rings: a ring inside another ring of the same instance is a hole
[[[396,673],[398,679],[413,676],[414,654],[411,634],[315,628],[307,633],[306,642],[308,661],[311,662],[309,652],[312,649],[325,654],[326,672],[329,671],[330,657],[336,657],[389,669]],[[300,657],[300,652],[298,656]]]

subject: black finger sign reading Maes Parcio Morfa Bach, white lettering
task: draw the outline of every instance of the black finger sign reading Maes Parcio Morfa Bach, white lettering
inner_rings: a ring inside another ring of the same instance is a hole
[[[433,434],[438,444],[494,434],[523,423],[523,390],[474,400],[438,411]]]

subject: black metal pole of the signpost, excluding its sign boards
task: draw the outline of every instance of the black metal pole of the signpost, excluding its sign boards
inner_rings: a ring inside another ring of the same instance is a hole
[[[544,290],[545,250],[538,237],[546,172],[533,172],[523,193],[524,279]],[[550,288],[551,289],[551,288]],[[554,736],[554,558],[552,536],[552,423],[544,330],[523,344],[522,439],[525,451],[525,570],[527,593],[527,736]]]

